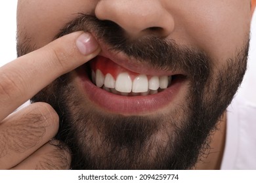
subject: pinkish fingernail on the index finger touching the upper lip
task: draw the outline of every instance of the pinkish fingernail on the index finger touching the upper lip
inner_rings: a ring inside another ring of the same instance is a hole
[[[88,55],[98,48],[98,42],[89,33],[83,33],[77,38],[76,46],[83,55]]]

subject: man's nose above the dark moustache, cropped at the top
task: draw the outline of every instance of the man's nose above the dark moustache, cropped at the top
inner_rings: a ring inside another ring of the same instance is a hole
[[[174,19],[158,0],[101,0],[95,16],[122,27],[129,35],[154,34],[167,37],[174,29]]]

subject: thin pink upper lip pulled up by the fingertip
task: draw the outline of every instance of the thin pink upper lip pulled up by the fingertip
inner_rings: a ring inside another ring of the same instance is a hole
[[[96,37],[95,37],[96,38]],[[111,49],[110,46],[105,44],[102,41],[98,41],[98,44],[100,45],[101,52],[98,54],[99,56],[103,56],[105,58],[111,59],[114,63],[117,65],[120,65],[121,67],[132,71],[134,73],[139,73],[143,75],[151,75],[151,76],[173,76],[173,75],[185,75],[182,71],[163,71],[159,69],[155,69],[149,64],[146,64],[145,62],[140,62],[137,59],[129,58],[126,56],[123,52],[115,52]]]

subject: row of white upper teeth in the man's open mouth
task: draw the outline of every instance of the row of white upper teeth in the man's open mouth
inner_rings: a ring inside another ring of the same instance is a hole
[[[110,73],[106,76],[97,69],[96,73],[92,71],[92,80],[98,86],[107,90],[108,92],[118,93],[121,95],[127,95],[128,93],[140,93],[141,95],[147,95],[148,93],[158,93],[158,89],[166,89],[170,82],[171,76],[152,76],[148,80],[148,76],[139,75],[134,80],[128,73],[119,73],[116,80]]]

